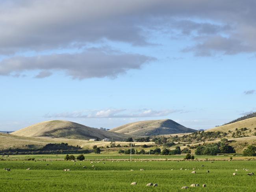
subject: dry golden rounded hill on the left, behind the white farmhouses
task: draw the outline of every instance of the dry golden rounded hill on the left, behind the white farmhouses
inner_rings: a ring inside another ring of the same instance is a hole
[[[120,133],[111,133],[82,124],[64,121],[52,120],[34,124],[11,133],[12,135],[24,137],[52,137],[52,138],[72,138],[72,139],[90,139],[90,138],[109,138],[110,140],[126,139],[126,135]]]

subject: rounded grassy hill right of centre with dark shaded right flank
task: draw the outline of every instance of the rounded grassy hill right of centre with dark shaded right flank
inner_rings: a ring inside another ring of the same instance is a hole
[[[170,119],[139,121],[109,130],[109,132],[139,136],[191,133],[195,131],[197,130],[184,127]]]

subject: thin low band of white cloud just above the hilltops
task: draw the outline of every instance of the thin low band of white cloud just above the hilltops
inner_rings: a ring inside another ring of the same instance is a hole
[[[159,117],[171,113],[180,113],[182,110],[155,111],[144,109],[139,111],[128,111],[126,109],[105,109],[93,111],[74,111],[72,113],[45,114],[46,118],[135,118],[135,117]]]

